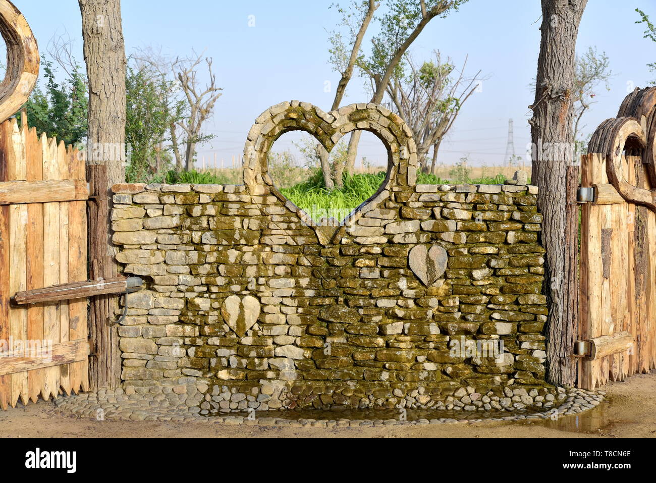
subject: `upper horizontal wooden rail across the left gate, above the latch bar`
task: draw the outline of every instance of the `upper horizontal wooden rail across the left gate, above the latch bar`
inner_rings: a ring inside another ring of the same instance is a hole
[[[89,187],[83,179],[0,182],[0,205],[87,200]]]

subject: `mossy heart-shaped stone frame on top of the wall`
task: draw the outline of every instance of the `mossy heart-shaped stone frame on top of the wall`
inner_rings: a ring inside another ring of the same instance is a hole
[[[281,194],[268,175],[267,160],[271,146],[288,131],[306,131],[330,152],[342,136],[356,130],[370,131],[388,152],[388,172],[384,182],[369,200],[359,205],[340,224],[325,217],[315,221]],[[244,148],[244,184],[253,196],[272,193],[314,228],[319,243],[337,243],[338,230],[350,226],[364,213],[387,200],[393,186],[412,186],[417,182],[417,146],[411,129],[401,117],[377,104],[351,104],[332,112],[323,112],[308,102],[281,102],[264,111],[249,131]]]

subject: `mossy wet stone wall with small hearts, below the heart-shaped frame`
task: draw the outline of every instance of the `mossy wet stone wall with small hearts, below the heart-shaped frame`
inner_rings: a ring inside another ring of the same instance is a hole
[[[546,387],[534,186],[397,190],[325,245],[266,189],[114,191],[117,260],[148,285],[119,327],[126,385],[200,383],[210,411],[423,407],[463,388]],[[409,268],[417,245],[445,249],[435,282]],[[504,353],[454,355],[463,337]]]

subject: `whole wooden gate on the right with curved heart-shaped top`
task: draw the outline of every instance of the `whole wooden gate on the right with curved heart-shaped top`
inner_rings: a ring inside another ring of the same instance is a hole
[[[584,389],[656,368],[655,106],[654,87],[626,96],[582,158],[575,352]]]

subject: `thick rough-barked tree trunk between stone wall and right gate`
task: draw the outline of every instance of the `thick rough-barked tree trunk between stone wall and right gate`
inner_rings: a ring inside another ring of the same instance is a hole
[[[543,22],[531,124],[533,169],[539,188],[538,207],[544,216],[545,282],[549,307],[546,324],[547,380],[556,385],[575,382],[573,345],[576,318],[571,301],[576,293],[576,211],[568,204],[567,167],[573,161],[573,81],[579,22],[587,0],[542,0]],[[550,144],[546,144],[550,143]],[[557,144],[553,144],[557,143]],[[560,146],[543,152],[543,147]],[[571,186],[569,186],[571,191]],[[569,200],[571,203],[571,200]]]

